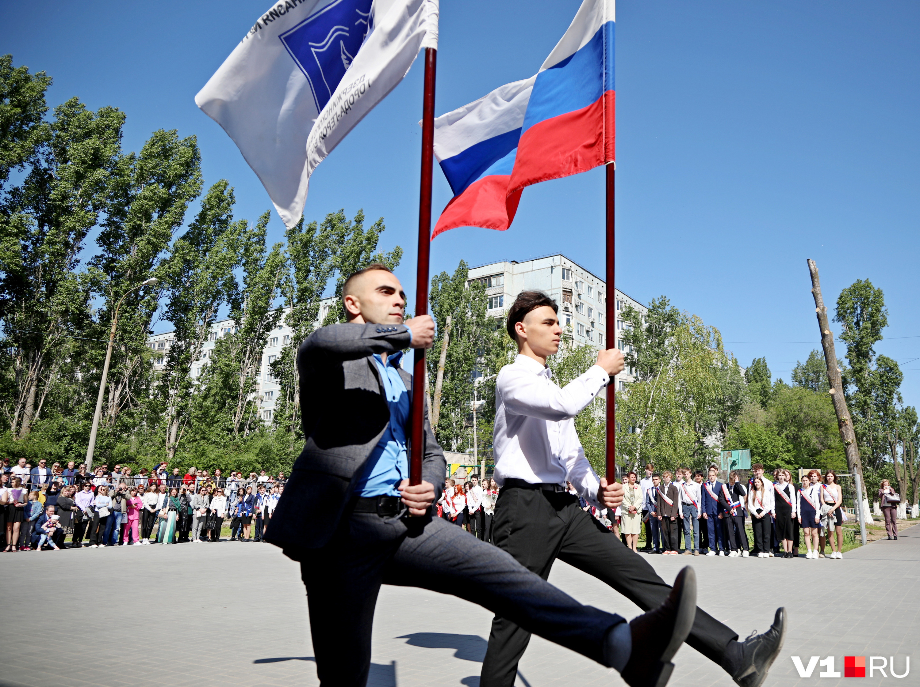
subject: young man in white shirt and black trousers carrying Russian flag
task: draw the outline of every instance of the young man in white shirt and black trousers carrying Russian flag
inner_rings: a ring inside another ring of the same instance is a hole
[[[623,499],[621,484],[608,485],[594,473],[573,422],[623,369],[623,355],[616,349],[600,351],[596,365],[559,389],[546,367],[546,358],[558,352],[561,342],[557,313],[556,301],[539,291],[521,293],[508,313],[506,326],[518,345],[518,355],[501,368],[496,381],[492,445],[501,490],[493,540],[542,577],[549,575],[559,557],[606,582],[640,608],[651,608],[671,588],[644,557],[635,556],[615,535],[592,522],[566,489],[569,480],[582,498],[599,509],[615,509]],[[765,635],[741,643],[737,633],[697,608],[686,642],[719,663],[742,687],[759,687],[782,646],[784,627],[785,611],[779,609]],[[523,627],[496,615],[480,687],[511,687],[529,639]],[[670,660],[667,652],[663,659],[661,654],[642,659],[636,651],[640,646],[661,651],[660,643],[654,634],[633,629],[633,654],[621,670],[627,683],[650,679],[657,683],[654,673]],[[638,677],[642,673],[644,677]]]

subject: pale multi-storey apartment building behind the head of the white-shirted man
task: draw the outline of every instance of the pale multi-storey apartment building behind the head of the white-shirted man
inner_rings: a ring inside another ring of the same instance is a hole
[[[489,315],[503,317],[514,298],[522,291],[544,291],[559,304],[559,321],[574,343],[594,348],[611,347],[624,350],[619,336],[626,326],[618,316],[627,305],[645,314],[648,309],[618,288],[614,289],[617,318],[604,321],[607,286],[604,280],[561,253],[519,263],[515,260],[480,265],[469,270],[469,281],[486,287]],[[608,332],[607,326],[610,325]],[[634,377],[627,367],[615,379],[616,389],[623,390]]]

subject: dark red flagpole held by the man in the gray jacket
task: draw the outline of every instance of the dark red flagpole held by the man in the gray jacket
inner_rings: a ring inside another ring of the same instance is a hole
[[[431,253],[431,175],[434,169],[434,72],[438,51],[425,49],[425,91],[421,115],[421,184],[419,195],[419,265],[415,281],[415,315],[428,313],[428,271]],[[412,349],[412,409],[409,437],[409,484],[421,484],[425,448],[425,349]]]

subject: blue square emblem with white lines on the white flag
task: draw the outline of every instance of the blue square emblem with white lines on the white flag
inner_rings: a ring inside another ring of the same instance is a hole
[[[373,0],[333,0],[278,38],[304,73],[316,111],[326,107],[370,33]]]

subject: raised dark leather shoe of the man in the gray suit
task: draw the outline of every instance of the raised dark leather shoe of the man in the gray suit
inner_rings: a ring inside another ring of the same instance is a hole
[[[677,574],[668,598],[658,608],[629,622],[632,653],[621,677],[630,687],[664,687],[671,662],[690,634],[696,617],[696,573],[687,566]]]

